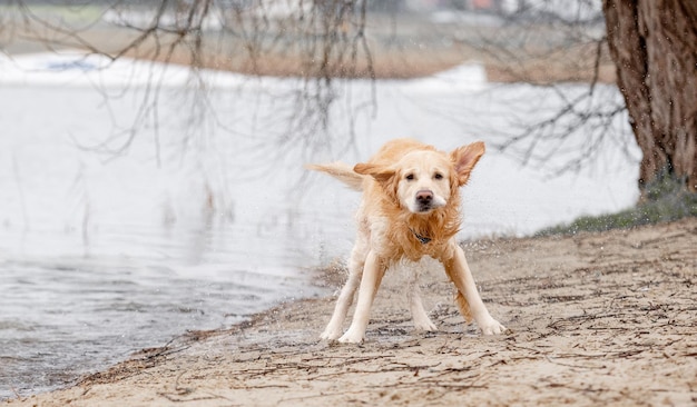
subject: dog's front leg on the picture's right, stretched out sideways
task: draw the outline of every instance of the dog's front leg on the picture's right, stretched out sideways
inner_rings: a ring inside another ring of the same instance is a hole
[[[477,325],[484,335],[498,335],[505,331],[505,327],[498,320],[493,319],[487,310],[484,302],[479,296],[474,278],[468,266],[464,251],[455,242],[452,242],[453,257],[451,259],[443,259],[443,266],[448,277],[454,282],[458,290],[467,299],[472,317],[477,321]],[[465,316],[467,317],[467,316]]]

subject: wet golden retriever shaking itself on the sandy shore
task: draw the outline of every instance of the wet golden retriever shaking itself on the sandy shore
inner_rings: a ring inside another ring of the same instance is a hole
[[[473,318],[484,335],[505,330],[482,302],[464,251],[455,241],[461,222],[459,189],[483,153],[483,142],[446,153],[415,140],[396,139],[385,143],[367,162],[353,168],[341,162],[307,166],[363,191],[357,238],[348,260],[348,280],[322,334],[323,339],[362,343],[385,271],[403,260],[419,261],[424,256],[443,264],[458,289],[455,301],[468,322]],[[408,286],[415,328],[435,330],[421,304],[419,285],[411,281]],[[357,288],[353,321],[342,335]]]

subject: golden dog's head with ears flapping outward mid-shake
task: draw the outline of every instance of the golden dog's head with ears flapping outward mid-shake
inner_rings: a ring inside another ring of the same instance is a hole
[[[428,215],[448,205],[483,153],[484,143],[478,141],[450,153],[414,150],[391,165],[357,163],[353,170],[372,176],[402,208]]]

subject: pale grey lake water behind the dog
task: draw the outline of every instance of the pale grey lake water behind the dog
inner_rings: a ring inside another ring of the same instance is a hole
[[[293,80],[204,72],[202,88],[163,69],[0,60],[0,399],[328,294],[314,270],[348,251],[359,196],[303,162],[355,162],[394,137],[491,145],[582,90],[489,85],[463,66],[333,93],[308,85],[308,97]],[[612,87],[596,93],[619,100]],[[334,100],[324,118],[323,98]],[[631,141],[605,140],[598,161],[549,176],[590,136],[579,131],[542,168],[490,148],[463,189],[461,237],[522,236],[630,206]]]

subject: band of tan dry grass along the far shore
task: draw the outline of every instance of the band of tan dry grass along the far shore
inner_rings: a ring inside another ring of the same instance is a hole
[[[420,42],[405,41],[402,37],[391,42],[383,36],[367,41],[367,52],[362,43],[334,44],[324,63],[321,60],[322,52],[308,51],[300,43],[255,49],[238,38],[208,34],[198,47],[189,38],[174,34],[159,34],[144,41],[137,40],[139,34],[138,31],[125,28],[96,27],[72,37],[45,27],[29,29],[20,26],[0,31],[0,40],[13,52],[35,52],[46,48],[91,48],[120,54],[126,49],[124,54],[130,58],[272,77],[410,79],[477,61],[483,63],[492,82],[543,85],[616,80],[615,66],[605,50],[600,63],[596,66],[595,44],[551,51],[504,50],[463,41],[443,44],[432,38],[430,42]]]

